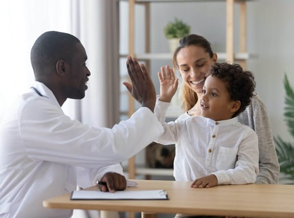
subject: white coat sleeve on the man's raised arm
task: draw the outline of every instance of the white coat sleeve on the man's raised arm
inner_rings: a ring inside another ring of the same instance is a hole
[[[146,107],[110,128],[71,120],[47,98],[27,103],[19,114],[19,132],[32,160],[100,168],[126,160],[163,132]]]

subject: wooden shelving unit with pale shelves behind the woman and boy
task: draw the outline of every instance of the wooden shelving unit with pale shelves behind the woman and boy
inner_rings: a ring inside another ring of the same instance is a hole
[[[224,2],[226,4],[226,52],[217,53],[219,60],[235,62],[241,64],[243,68],[246,67],[246,60],[250,57],[246,53],[246,0],[128,0],[129,4],[129,53],[120,54],[120,57],[126,57],[131,55],[136,57],[140,61],[145,61],[147,68],[149,68],[150,60],[171,60],[171,53],[150,53],[150,4],[153,3],[173,3],[173,2]],[[146,53],[135,53],[134,48],[134,6],[135,4],[141,4],[145,6],[145,32],[146,32],[146,42],[145,42],[145,52]],[[239,4],[239,26],[240,26],[240,36],[239,36],[239,52],[234,53],[234,4]],[[150,68],[149,68],[150,69]],[[134,100],[129,97],[128,111],[127,114],[131,116],[135,111]],[[167,116],[177,117],[180,113],[177,108],[172,108]],[[126,114],[124,112],[123,114]],[[172,170],[169,169],[151,169],[142,168],[135,166],[135,157],[131,157],[128,161],[128,175],[129,179],[135,179],[135,175],[147,174],[147,175],[172,175]]]

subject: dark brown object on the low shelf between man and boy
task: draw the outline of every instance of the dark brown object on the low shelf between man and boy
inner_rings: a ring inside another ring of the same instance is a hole
[[[146,148],[146,163],[151,168],[173,168],[174,145],[151,143]]]

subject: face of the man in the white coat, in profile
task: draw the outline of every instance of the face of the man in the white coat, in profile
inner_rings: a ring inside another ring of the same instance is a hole
[[[66,75],[67,97],[73,99],[82,99],[85,96],[85,90],[88,88],[86,83],[91,72],[86,66],[87,54],[81,43],[77,43],[76,52],[73,54]]]

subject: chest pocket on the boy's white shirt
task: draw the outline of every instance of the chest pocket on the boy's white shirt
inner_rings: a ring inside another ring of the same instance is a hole
[[[215,167],[218,170],[234,169],[237,160],[238,148],[228,148],[220,146]]]

